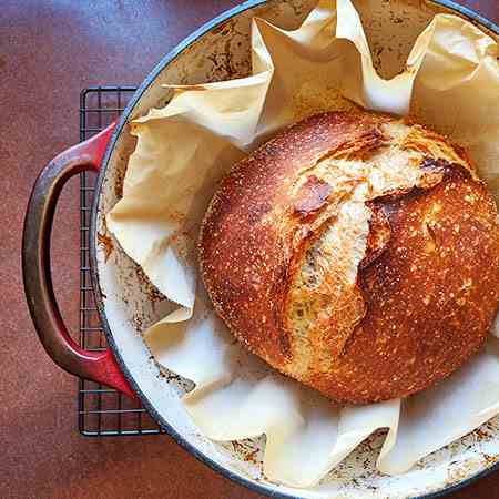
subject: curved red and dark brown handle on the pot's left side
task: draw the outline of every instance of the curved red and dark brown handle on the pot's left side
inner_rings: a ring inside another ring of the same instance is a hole
[[[41,171],[24,218],[22,274],[34,328],[52,360],[70,374],[135,398],[110,348],[89,352],[69,335],[53,293],[50,268],[50,235],[62,187],[80,172],[99,171],[114,125],[62,152]]]

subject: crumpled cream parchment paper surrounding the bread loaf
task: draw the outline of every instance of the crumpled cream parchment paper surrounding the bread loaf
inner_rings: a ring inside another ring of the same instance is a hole
[[[497,44],[462,19],[439,14],[406,71],[386,81],[350,0],[323,0],[296,31],[254,19],[252,50],[253,75],[174,86],[169,105],[131,124],[138,144],[108,228],[179,304],[144,340],[161,366],[195,383],[183,401],[204,435],[266,435],[269,479],[314,486],[378,428],[389,428],[378,469],[404,472],[499,413],[499,342],[491,335],[462,369],[409,399],[339,407],[234,343],[197,279],[194,244],[216,183],[234,162],[283,126],[352,102],[410,112],[448,134],[467,147],[498,200]]]

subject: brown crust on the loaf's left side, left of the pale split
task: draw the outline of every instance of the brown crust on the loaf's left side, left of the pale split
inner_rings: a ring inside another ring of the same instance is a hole
[[[241,161],[210,205],[200,237],[206,289],[234,335],[274,366],[289,354],[282,315],[293,254],[275,230],[279,208],[294,204],[289,193],[299,172],[340,147],[355,151],[377,141],[378,122],[338,113],[297,123]],[[302,228],[296,245],[308,234]]]

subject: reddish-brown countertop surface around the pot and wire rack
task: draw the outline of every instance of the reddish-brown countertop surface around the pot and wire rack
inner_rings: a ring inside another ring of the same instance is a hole
[[[2,498],[257,498],[214,473],[166,436],[84,438],[75,379],[39,344],[20,271],[22,220],[41,167],[78,142],[78,103],[92,84],[138,84],[196,27],[232,0],[3,0],[0,13],[0,284]],[[461,0],[499,22],[498,0]],[[78,328],[78,184],[58,207],[54,281]],[[452,499],[499,497],[491,476]]]

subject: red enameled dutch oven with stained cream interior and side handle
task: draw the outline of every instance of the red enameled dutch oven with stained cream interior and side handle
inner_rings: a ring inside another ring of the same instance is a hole
[[[105,231],[104,214],[119,198],[116,186],[122,183],[128,157],[134,147],[128,123],[149,109],[167,103],[170,93],[162,83],[194,84],[246,75],[251,64],[251,19],[258,16],[293,29],[299,26],[314,3],[313,0],[249,0],[210,21],[165,55],[136,91],[116,124],[59,154],[42,170],[24,222],[22,263],[29,308],[40,340],[59,366],[138,397],[187,451],[253,490],[273,497],[317,499],[441,495],[499,466],[490,459],[469,459],[470,452],[482,456],[486,447],[489,455],[499,456],[499,420],[489,422],[489,428],[497,427],[497,430],[487,442],[477,436],[471,444],[469,439],[452,444],[451,452],[442,449],[401,476],[381,476],[374,465],[371,472],[366,475],[366,459],[374,461],[376,456],[360,456],[350,459],[348,466],[338,466],[334,475],[315,488],[293,489],[273,483],[262,476],[259,465],[245,460],[230,446],[210,441],[196,430],[182,406],[182,387],[160,376],[135,328],[138,319],[147,324],[159,318],[151,305],[147,286],[126,255],[115,248],[113,257],[106,261],[104,249],[98,244],[98,234]],[[357,0],[355,4],[371,48],[388,43],[387,33],[398,41],[400,69],[414,40],[438,12],[462,16],[498,39],[497,26],[446,0]],[[59,194],[70,177],[84,170],[99,173],[89,240],[94,296],[109,343],[109,348],[99,353],[88,352],[71,339],[57,305],[50,269],[50,234]],[[259,439],[255,445],[263,446],[264,442]],[[356,480],[360,475],[364,478]]]

